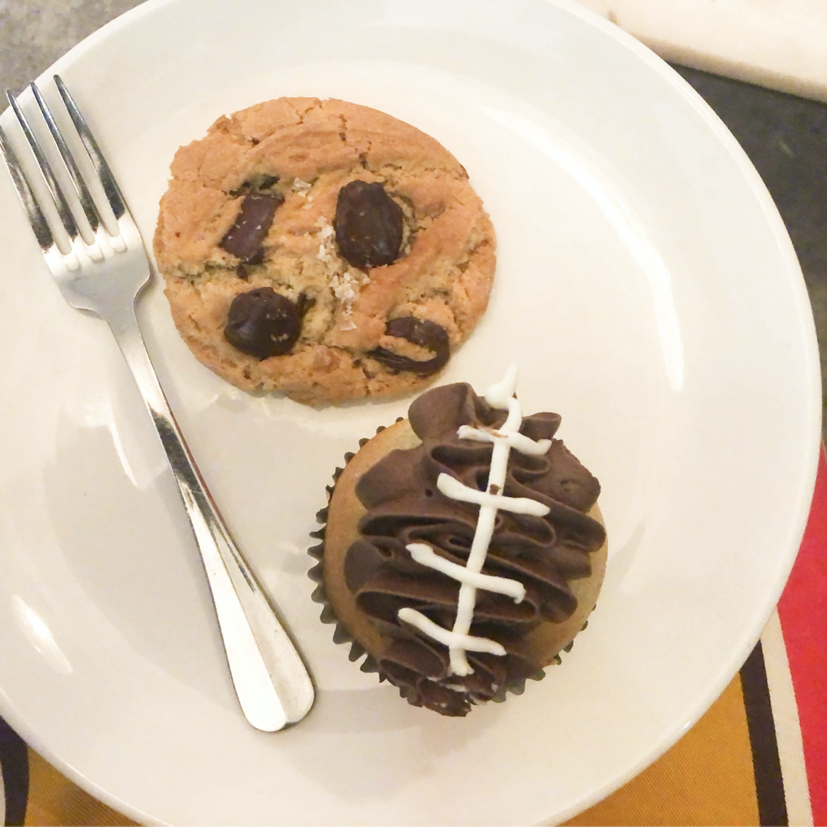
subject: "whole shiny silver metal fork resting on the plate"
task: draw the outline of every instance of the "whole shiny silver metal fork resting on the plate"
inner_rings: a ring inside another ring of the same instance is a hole
[[[72,189],[61,188],[22,109],[12,93],[6,94],[69,237],[67,251],[60,251],[37,203],[36,188],[26,178],[2,129],[0,151],[60,292],[72,307],[92,311],[103,318],[121,348],[155,423],[192,524],[241,709],[256,729],[275,732],[307,715],[313,705],[313,683],[288,633],[225,528],[175,423],[135,315],[137,294],[150,278],[141,234],[84,117],[57,75],[55,84],[112,208],[117,235],[108,232],[69,146],[35,84],[31,84],[31,91],[60,151]],[[83,211],[93,234],[92,243],[84,241],[69,201]]]

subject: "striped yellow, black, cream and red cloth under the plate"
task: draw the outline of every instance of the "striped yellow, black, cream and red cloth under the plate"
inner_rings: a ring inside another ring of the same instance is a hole
[[[0,820],[132,825],[0,719]],[[827,825],[827,463],[801,552],[741,671],[672,749],[570,825]]]

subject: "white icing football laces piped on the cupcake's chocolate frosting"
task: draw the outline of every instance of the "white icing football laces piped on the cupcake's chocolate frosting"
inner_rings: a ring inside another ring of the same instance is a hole
[[[474,618],[476,604],[476,590],[495,591],[501,595],[508,595],[519,603],[525,597],[525,587],[519,581],[508,577],[494,577],[482,574],[488,547],[494,535],[494,523],[497,511],[511,511],[516,514],[533,514],[545,517],[549,512],[547,505],[527,497],[506,497],[499,492],[503,490],[505,475],[508,470],[509,453],[514,448],[520,453],[533,456],[543,455],[551,447],[550,439],[533,440],[519,433],[523,423],[523,414],[519,402],[514,399],[514,388],[517,385],[517,366],[512,365],[506,371],[504,379],[496,385],[491,385],[485,394],[485,401],[492,408],[508,410],[509,414],[500,430],[493,428],[481,430],[462,425],[457,430],[461,439],[472,439],[476,442],[493,442],[491,452],[491,466],[488,474],[488,485],[485,491],[478,491],[463,485],[449,474],[440,474],[437,477],[437,488],[442,494],[452,500],[461,500],[466,503],[475,503],[480,506],[477,516],[474,540],[465,566],[452,563],[444,557],[439,557],[433,548],[425,543],[409,543],[406,548],[411,557],[423,566],[429,566],[436,571],[459,581],[460,594],[457,600],[457,618],[453,629],[443,629],[425,617],[416,609],[399,609],[399,619],[419,629],[423,634],[433,638],[438,643],[447,646],[451,658],[450,672],[453,675],[470,675],[474,670],[468,663],[466,652],[487,652],[492,655],[504,655],[505,649],[488,638],[475,638],[468,634],[471,621]]]

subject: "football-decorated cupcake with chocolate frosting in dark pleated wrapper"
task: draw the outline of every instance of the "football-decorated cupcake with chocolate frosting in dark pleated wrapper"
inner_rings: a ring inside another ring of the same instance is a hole
[[[415,706],[466,715],[560,662],[606,560],[600,485],[557,414],[523,417],[516,369],[444,385],[346,455],[311,577],[334,640]]]

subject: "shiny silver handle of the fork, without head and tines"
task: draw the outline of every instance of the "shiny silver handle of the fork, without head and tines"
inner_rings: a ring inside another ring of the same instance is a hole
[[[313,705],[307,668],[227,532],[161,390],[134,308],[108,318],[170,461],[213,595],[232,682],[246,719],[275,732]]]

